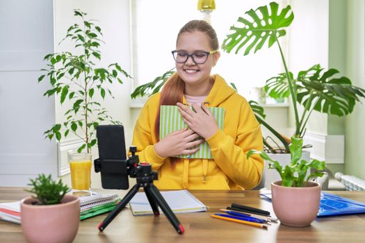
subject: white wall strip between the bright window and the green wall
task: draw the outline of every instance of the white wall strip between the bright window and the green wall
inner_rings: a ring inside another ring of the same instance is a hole
[[[315,64],[328,68],[329,0],[292,0],[294,19],[289,29],[289,69],[294,76]],[[291,124],[295,124],[292,117]],[[308,131],[327,134],[327,115],[312,112]]]

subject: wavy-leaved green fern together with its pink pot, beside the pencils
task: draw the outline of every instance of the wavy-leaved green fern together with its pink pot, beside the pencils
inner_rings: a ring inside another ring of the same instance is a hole
[[[302,159],[302,145],[302,138],[291,137],[291,163],[284,167],[264,151],[252,149],[247,155],[249,158],[252,154],[259,154],[263,160],[269,162],[270,169],[277,170],[282,181],[271,183],[273,209],[282,224],[294,227],[309,226],[316,219],[321,187],[309,180],[323,176],[321,171],[325,169],[324,161]],[[311,169],[314,169],[314,172],[307,175]]]

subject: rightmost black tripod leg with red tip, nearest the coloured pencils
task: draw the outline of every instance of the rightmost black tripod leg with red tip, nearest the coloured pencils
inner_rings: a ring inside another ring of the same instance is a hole
[[[166,215],[172,226],[174,226],[177,233],[183,234],[185,231],[184,227],[180,224],[179,219],[177,219],[174,212],[172,212],[170,206],[168,206],[168,203],[166,203],[165,199],[163,199],[159,189],[157,189],[154,184],[149,183],[145,186],[145,190],[149,191],[154,200],[156,200],[157,204],[160,206],[161,210]]]

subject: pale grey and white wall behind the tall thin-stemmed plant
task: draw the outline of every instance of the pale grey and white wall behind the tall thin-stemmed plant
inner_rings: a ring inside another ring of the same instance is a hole
[[[74,23],[74,8],[99,21],[106,42],[100,66],[118,62],[131,74],[129,0],[0,0],[0,186],[24,186],[39,173],[56,178],[63,167],[56,142],[43,133],[62,121],[65,107],[42,96],[50,85],[38,84],[38,77],[47,53],[71,51],[70,44],[57,44]],[[127,146],[133,132],[130,92],[126,78],[113,87],[116,99],[106,99],[110,115],[124,124]],[[92,187],[99,187],[99,175],[92,176]],[[63,181],[70,185],[69,175]]]

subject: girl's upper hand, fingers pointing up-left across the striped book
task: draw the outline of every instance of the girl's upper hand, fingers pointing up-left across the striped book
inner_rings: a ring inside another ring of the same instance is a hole
[[[182,103],[177,103],[177,106],[188,127],[204,137],[204,139],[213,136],[218,131],[219,128],[216,119],[204,105],[200,107],[196,103],[193,103],[192,106],[195,111]]]

